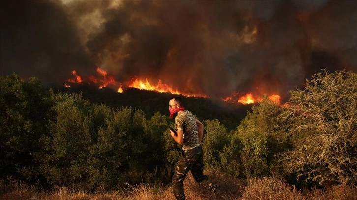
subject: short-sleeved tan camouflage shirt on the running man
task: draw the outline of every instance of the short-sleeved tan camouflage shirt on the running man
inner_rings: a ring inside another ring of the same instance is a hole
[[[183,131],[183,150],[189,150],[200,144],[196,117],[188,110],[179,111],[175,118],[175,127]]]

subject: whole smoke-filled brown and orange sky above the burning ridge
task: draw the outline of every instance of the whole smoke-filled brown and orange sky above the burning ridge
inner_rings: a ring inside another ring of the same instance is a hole
[[[212,98],[357,71],[357,1],[1,1],[0,73],[63,85],[100,66]]]

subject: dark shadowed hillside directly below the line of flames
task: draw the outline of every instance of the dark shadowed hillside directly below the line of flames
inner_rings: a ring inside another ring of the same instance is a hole
[[[83,98],[97,104],[105,104],[113,108],[131,106],[141,109],[146,117],[156,112],[168,115],[168,100],[174,96],[171,93],[160,93],[156,91],[129,88],[123,93],[118,93],[111,88],[99,89],[87,84],[76,84],[72,87],[52,87],[54,91],[71,92],[82,94]],[[235,129],[239,122],[251,110],[252,105],[240,103],[232,104],[225,102],[213,102],[208,98],[185,97],[179,95],[184,101],[184,106],[200,120],[218,119],[228,130]]]

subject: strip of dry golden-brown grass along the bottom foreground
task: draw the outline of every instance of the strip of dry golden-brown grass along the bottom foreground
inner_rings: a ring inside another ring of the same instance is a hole
[[[325,191],[301,194],[275,178],[251,179],[243,187],[239,179],[206,170],[206,175],[220,185],[232,200],[357,200],[354,186],[334,186]],[[184,182],[187,200],[216,200],[214,194],[200,187],[189,174]],[[37,192],[34,187],[0,181],[1,200],[174,200],[171,187],[149,185],[130,186],[124,192],[87,194],[59,188],[53,193]]]

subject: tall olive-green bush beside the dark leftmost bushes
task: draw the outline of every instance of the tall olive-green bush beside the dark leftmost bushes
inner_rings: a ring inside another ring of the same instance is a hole
[[[80,95],[59,93],[52,98],[56,118],[49,125],[50,134],[42,138],[42,172],[50,183],[84,187],[96,134],[93,108]]]

